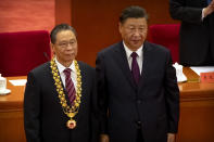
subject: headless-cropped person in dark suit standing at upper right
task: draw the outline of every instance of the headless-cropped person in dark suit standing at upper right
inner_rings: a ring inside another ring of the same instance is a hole
[[[169,13],[181,21],[180,64],[214,65],[214,0],[169,0]]]

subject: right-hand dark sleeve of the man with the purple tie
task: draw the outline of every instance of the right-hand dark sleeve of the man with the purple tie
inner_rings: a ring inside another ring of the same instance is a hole
[[[167,109],[168,132],[176,133],[179,120],[179,89],[177,85],[176,70],[172,65],[168,52],[165,72],[165,98]]]

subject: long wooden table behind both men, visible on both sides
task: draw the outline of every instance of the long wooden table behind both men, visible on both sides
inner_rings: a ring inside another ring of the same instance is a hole
[[[180,119],[176,142],[214,142],[214,83],[200,83],[199,76],[184,68],[187,82],[180,90]],[[9,77],[11,79],[26,77]],[[25,142],[23,122],[24,86],[12,86],[11,93],[0,96],[0,142]]]

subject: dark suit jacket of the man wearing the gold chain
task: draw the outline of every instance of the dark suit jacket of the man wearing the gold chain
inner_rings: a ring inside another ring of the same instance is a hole
[[[75,116],[77,127],[73,130],[66,128],[68,117],[62,111],[50,62],[28,74],[24,98],[24,125],[28,142],[96,142],[95,69],[83,62],[78,64],[83,93],[79,112]]]

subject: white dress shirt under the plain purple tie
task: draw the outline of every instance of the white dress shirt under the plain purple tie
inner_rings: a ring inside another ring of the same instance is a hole
[[[128,61],[128,65],[129,65],[129,68],[131,70],[131,63],[133,63],[133,57],[130,56],[130,54],[134,52],[131,51],[130,49],[128,49],[128,47],[125,44],[125,42],[123,41],[123,44],[124,44],[124,49],[126,51],[126,57],[127,57],[127,61]],[[143,46],[141,46],[137,51],[135,51],[138,56],[137,56],[137,63],[138,63],[138,66],[139,66],[139,69],[140,69],[140,75],[141,75],[141,72],[142,72],[142,48]]]

